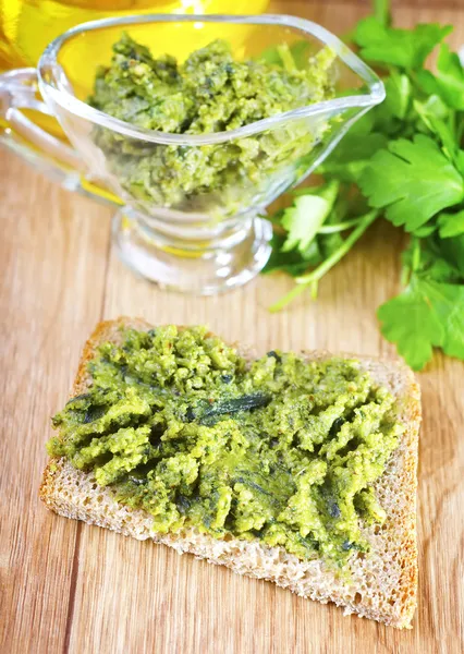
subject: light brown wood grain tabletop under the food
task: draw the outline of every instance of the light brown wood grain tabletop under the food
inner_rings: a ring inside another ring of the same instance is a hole
[[[417,2],[417,4],[419,4]],[[464,7],[398,7],[400,24],[439,20],[464,41]],[[462,2],[456,4],[462,5]],[[444,7],[444,3],[443,3]],[[358,2],[273,2],[345,32]],[[37,498],[49,416],[65,401],[84,339],[101,318],[206,323],[227,339],[283,349],[394,354],[375,307],[398,290],[402,239],[375,226],[288,311],[267,307],[279,276],[210,299],[136,279],[110,246],[111,211],[0,154],[0,652],[127,654],[457,654],[463,638],[462,363],[437,354],[419,375],[419,606],[400,632],[191,556],[49,513]]]

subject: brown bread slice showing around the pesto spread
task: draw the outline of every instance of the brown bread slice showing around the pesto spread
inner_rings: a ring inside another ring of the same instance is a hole
[[[143,319],[130,318],[100,323],[84,348],[72,397],[84,392],[91,384],[87,362],[93,359],[98,344],[120,342],[121,327],[142,330],[151,326]],[[256,356],[251,348],[239,347],[239,350],[248,360]],[[329,354],[305,352],[305,356],[323,359]],[[151,538],[180,554],[191,553],[240,574],[268,579],[304,597],[334,602],[344,607],[345,614],[355,613],[400,629],[410,628],[417,592],[416,469],[420,392],[413,373],[404,365],[388,360],[357,359],[377,383],[395,396],[399,420],[405,431],[383,475],[375,484],[388,518],[382,526],[363,530],[370,543],[370,552],[353,554],[349,578],[337,574],[321,559],[301,560],[282,547],[270,547],[258,540],[218,540],[194,528],[182,529],[175,534],[154,533],[149,513],[119,504],[110,487],[98,486],[91,473],[74,469],[64,459],[49,461],[40,497],[60,516],[106,526],[141,541]]]

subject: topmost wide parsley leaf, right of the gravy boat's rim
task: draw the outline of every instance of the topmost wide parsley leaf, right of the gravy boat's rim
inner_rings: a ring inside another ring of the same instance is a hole
[[[382,25],[375,16],[368,16],[357,24],[354,41],[361,46],[361,57],[367,61],[418,69],[451,31],[451,25],[436,23],[417,25],[414,29],[395,29]]]

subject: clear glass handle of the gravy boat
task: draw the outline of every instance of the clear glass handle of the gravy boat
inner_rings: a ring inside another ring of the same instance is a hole
[[[106,204],[122,204],[110,192],[86,179],[86,166],[69,143],[50,134],[26,116],[24,110],[33,110],[42,117],[54,119],[40,98],[37,71],[34,68],[17,69],[0,75],[0,143],[63,189]],[[41,122],[45,122],[44,118]]]

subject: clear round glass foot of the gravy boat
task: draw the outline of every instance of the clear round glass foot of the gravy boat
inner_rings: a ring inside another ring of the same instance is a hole
[[[112,222],[118,255],[134,272],[162,289],[198,295],[221,293],[256,277],[269,259],[271,237],[271,225],[259,217],[242,221],[225,239],[194,247],[167,241],[124,209]]]

